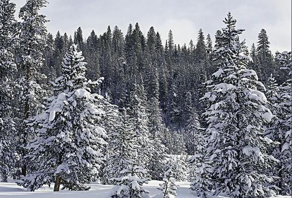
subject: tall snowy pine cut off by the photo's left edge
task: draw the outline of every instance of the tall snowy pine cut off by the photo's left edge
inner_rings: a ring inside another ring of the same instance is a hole
[[[15,92],[14,63],[15,35],[17,34],[14,19],[15,4],[9,0],[0,1],[0,181],[7,182],[16,163],[15,156],[15,120],[13,100]]]

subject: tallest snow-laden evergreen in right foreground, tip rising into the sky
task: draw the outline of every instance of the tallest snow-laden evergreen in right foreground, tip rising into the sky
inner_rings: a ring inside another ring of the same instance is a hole
[[[207,82],[209,102],[204,115],[208,123],[205,162],[211,165],[209,177],[215,181],[215,194],[232,197],[268,197],[275,195],[272,178],[263,170],[277,160],[267,154],[271,140],[263,138],[263,125],[274,117],[266,106],[266,97],[258,90],[263,84],[255,71],[246,68],[249,57],[244,41],[238,41],[243,29],[235,29],[231,13],[224,20],[221,47],[215,56],[218,71]]]

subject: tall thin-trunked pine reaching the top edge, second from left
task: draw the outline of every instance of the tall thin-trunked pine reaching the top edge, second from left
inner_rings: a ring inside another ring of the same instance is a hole
[[[21,61],[19,63],[19,89],[21,111],[20,145],[26,146],[32,134],[27,125],[29,118],[32,118],[41,107],[42,97],[45,95],[45,76],[40,74],[42,68],[42,53],[46,46],[47,30],[45,24],[46,16],[39,14],[39,10],[46,6],[46,0],[27,0],[20,9],[19,18],[23,20],[20,24],[19,35]],[[21,147],[21,156],[27,151]],[[21,157],[22,175],[27,174],[28,162]],[[31,168],[31,167],[30,167]]]

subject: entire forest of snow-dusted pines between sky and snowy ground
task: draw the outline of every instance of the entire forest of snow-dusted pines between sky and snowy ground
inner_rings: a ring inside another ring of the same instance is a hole
[[[46,3],[27,0],[17,22],[0,0],[1,181],[100,181],[113,198],[141,197],[150,179],[165,198],[183,180],[202,197],[291,195],[291,52],[273,55],[265,29],[250,50],[231,13],[215,41],[200,29],[182,46],[138,23],[53,36]]]

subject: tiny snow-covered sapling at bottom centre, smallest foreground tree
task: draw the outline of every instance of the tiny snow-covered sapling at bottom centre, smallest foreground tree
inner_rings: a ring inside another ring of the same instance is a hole
[[[178,187],[179,185],[176,184],[174,177],[174,161],[170,157],[166,164],[163,183],[159,184],[157,188],[162,191],[163,198],[174,198]]]

